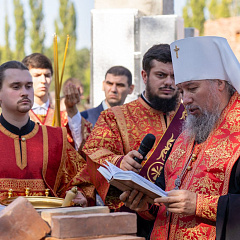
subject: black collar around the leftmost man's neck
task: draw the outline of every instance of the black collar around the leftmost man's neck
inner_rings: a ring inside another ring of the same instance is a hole
[[[23,136],[23,135],[27,135],[29,134],[34,126],[35,126],[35,122],[31,121],[30,118],[28,119],[28,122],[21,128],[19,129],[18,127],[12,125],[11,123],[9,123],[1,114],[0,116],[0,123],[2,124],[2,126],[4,128],[6,128],[9,132],[19,135],[19,136]]]

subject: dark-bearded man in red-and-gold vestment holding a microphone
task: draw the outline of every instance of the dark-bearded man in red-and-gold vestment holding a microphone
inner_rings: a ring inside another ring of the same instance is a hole
[[[132,170],[152,182],[160,175],[166,152],[181,131],[185,109],[179,101],[170,46],[159,44],[144,55],[141,72],[145,91],[130,103],[103,111],[83,151],[88,172],[98,194],[112,211],[129,211],[119,200],[119,191],[110,187],[97,169],[106,160],[123,170]],[[146,134],[155,135],[152,150],[143,159],[137,151]],[[142,159],[142,164],[133,158]],[[148,224],[138,221],[138,236],[145,236]]]

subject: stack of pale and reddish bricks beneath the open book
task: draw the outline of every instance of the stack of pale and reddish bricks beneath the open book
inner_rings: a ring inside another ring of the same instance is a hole
[[[143,240],[136,237],[136,214],[109,213],[107,207],[48,210],[42,217],[51,225],[51,237],[46,240],[113,239]],[[72,214],[74,213],[74,214]]]

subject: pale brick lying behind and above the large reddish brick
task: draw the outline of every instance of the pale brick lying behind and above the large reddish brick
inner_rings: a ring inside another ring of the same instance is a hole
[[[52,225],[52,217],[60,215],[81,215],[90,213],[109,213],[109,208],[106,206],[95,206],[95,207],[67,207],[67,208],[54,208],[54,209],[41,209],[41,217],[50,226]]]

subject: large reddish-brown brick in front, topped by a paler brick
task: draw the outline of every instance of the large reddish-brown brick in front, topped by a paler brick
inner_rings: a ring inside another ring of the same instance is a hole
[[[77,238],[136,234],[135,213],[99,213],[77,216],[53,216],[52,237]]]

